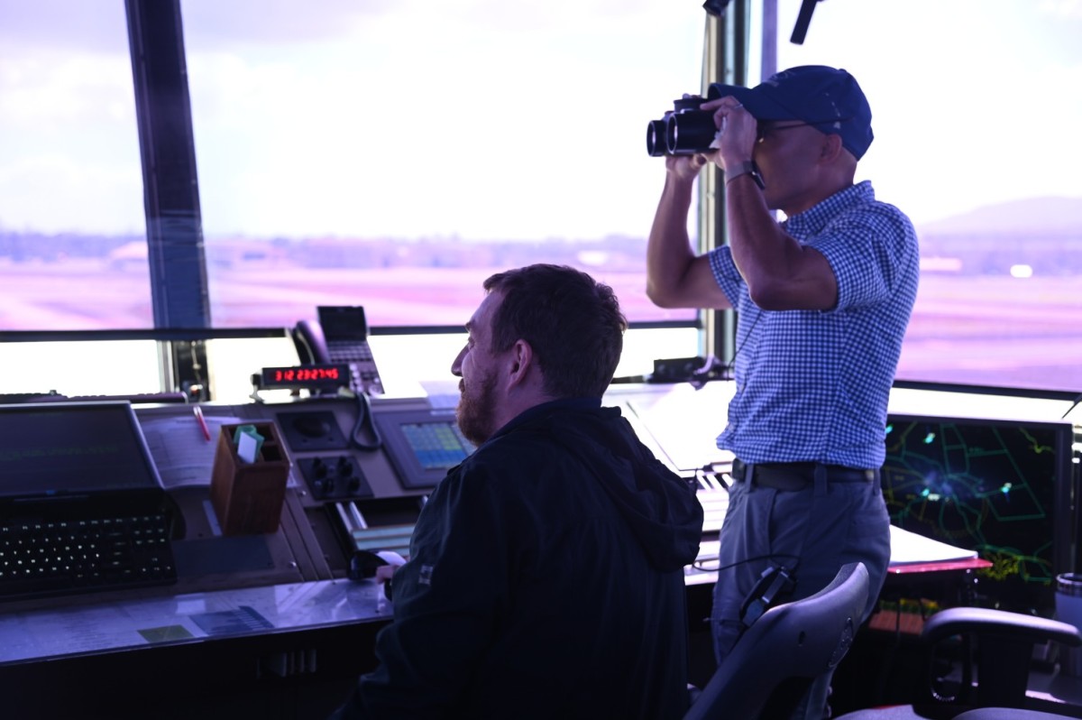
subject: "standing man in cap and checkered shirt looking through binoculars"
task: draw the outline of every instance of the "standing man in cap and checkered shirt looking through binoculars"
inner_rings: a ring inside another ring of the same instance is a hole
[[[721,660],[771,566],[795,578],[797,599],[861,561],[865,616],[874,607],[890,555],[879,468],[919,251],[909,219],[854,183],[872,129],[852,75],[794,67],[710,96],[715,150],[665,158],[647,292],[663,307],[738,314],[736,389],[717,437],[736,456],[712,614]],[[687,217],[708,161],[725,171],[729,245],[696,256]],[[808,717],[822,717],[828,682]]]

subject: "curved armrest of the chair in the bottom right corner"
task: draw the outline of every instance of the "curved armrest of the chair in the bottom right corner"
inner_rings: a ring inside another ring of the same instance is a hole
[[[956,634],[997,636],[1033,643],[1048,640],[1070,647],[1082,645],[1078,628],[1059,620],[987,607],[950,607],[928,618],[921,637],[931,643]]]

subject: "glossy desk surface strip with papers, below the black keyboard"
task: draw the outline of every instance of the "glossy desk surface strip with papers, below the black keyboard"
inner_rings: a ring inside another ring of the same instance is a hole
[[[318,580],[78,606],[0,608],[0,666],[390,618],[372,580]]]

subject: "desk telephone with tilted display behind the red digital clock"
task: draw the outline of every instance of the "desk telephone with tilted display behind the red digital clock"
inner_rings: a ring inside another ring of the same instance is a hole
[[[293,344],[301,363],[346,363],[351,388],[366,395],[382,395],[383,381],[368,345],[365,309],[318,305],[318,322],[301,320],[293,328]]]

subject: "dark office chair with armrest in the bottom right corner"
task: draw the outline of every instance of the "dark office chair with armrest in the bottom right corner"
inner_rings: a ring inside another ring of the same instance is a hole
[[[971,720],[1039,718],[1040,715],[1020,714],[1027,704],[1033,647],[1048,641],[1078,647],[1082,645],[1082,634],[1067,623],[1019,613],[985,607],[940,611],[928,618],[921,632],[927,652],[927,678],[919,688],[921,695],[913,705],[856,710],[836,720],[956,720],[962,714]],[[942,649],[951,650],[956,662],[945,665],[945,655],[939,652]],[[1006,716],[966,712],[977,712],[977,708],[985,708],[985,712],[1003,709]]]

